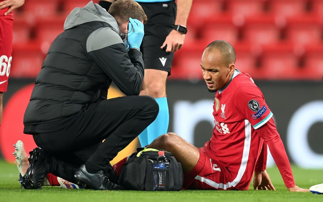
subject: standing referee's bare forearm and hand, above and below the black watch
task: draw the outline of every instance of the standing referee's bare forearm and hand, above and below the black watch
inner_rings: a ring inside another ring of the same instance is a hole
[[[190,14],[193,0],[177,0],[177,16],[175,25],[182,25],[186,27],[187,18]],[[161,46],[163,48],[167,45],[166,52],[175,52],[178,49],[181,49],[185,40],[185,35],[172,30],[169,35],[166,37],[165,42]]]

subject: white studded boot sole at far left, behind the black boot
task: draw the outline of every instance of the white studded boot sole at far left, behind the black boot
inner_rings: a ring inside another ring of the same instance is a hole
[[[15,147],[15,152],[12,153],[13,155],[15,155],[15,163],[18,167],[18,171],[19,171],[19,183],[22,183],[22,177],[25,176],[27,168],[29,166],[29,155],[27,154],[27,152],[25,151],[25,147],[24,147],[24,143],[21,140],[18,140],[16,144],[14,144]]]

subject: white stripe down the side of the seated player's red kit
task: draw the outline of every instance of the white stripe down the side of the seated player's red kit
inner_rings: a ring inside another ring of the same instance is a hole
[[[226,184],[216,183],[213,180],[210,180],[208,178],[201,177],[201,176],[196,176],[195,179],[201,182],[204,182],[214,188],[227,189],[229,187],[235,187],[242,179],[242,176],[245,174],[245,169],[247,168],[247,163],[248,163],[250,144],[251,144],[251,124],[248,120],[245,119],[245,143],[244,143],[244,148],[242,153],[241,165],[240,165],[237,177],[235,177],[235,179],[232,182],[228,182]]]

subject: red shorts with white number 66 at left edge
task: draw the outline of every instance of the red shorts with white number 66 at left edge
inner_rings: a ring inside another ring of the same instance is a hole
[[[12,28],[14,18],[0,16],[0,92],[6,92],[11,66]]]

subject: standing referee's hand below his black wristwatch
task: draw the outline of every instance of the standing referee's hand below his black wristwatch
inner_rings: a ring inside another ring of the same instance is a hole
[[[181,49],[185,40],[185,35],[179,33],[176,30],[172,30],[171,33],[166,37],[165,42],[161,46],[161,49],[167,45],[166,52],[175,52],[178,49]]]

